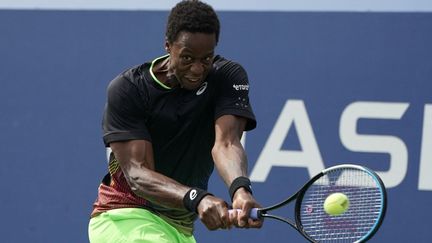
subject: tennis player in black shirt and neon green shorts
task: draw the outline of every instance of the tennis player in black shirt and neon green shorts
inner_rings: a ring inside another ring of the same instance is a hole
[[[143,27],[144,28],[144,27]],[[112,153],[89,222],[90,242],[195,242],[209,230],[259,228],[243,131],[255,128],[245,70],[215,55],[219,20],[206,3],[179,2],[166,28],[167,54],[108,86],[103,140]],[[214,166],[232,207],[207,191]]]

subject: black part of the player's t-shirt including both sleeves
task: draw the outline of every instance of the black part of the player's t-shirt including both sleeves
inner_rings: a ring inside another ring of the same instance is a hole
[[[207,189],[214,166],[215,120],[230,114],[247,118],[246,130],[256,126],[247,74],[239,64],[216,56],[200,88],[170,89],[155,79],[151,67],[152,63],[136,66],[111,81],[103,117],[104,143],[150,141],[157,172]]]

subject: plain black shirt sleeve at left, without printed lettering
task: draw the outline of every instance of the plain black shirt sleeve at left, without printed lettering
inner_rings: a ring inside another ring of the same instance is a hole
[[[144,97],[143,91],[125,75],[111,81],[102,121],[105,146],[127,140],[151,141],[146,126],[148,112]]]

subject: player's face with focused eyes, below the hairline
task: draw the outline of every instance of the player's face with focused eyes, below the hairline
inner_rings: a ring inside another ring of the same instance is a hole
[[[182,88],[200,87],[213,64],[215,34],[180,32],[176,41],[165,45],[170,54],[169,71]]]

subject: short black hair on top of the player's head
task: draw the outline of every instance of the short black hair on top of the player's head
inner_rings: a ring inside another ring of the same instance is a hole
[[[166,28],[166,39],[173,43],[181,31],[215,34],[219,41],[220,23],[213,8],[199,0],[183,0],[171,9]]]

